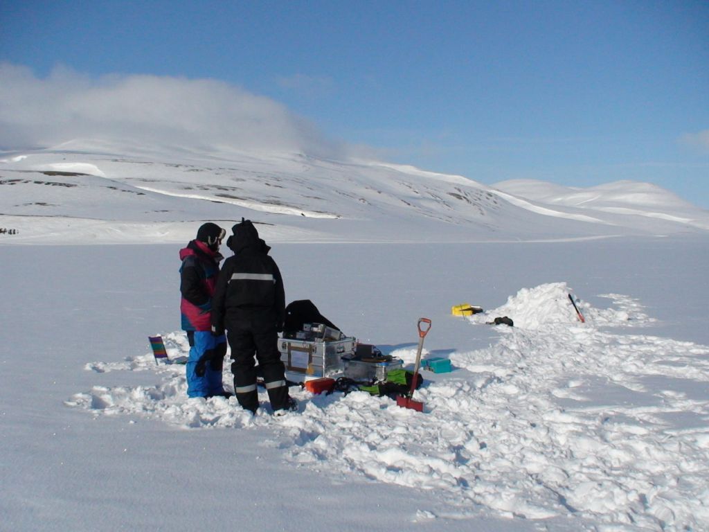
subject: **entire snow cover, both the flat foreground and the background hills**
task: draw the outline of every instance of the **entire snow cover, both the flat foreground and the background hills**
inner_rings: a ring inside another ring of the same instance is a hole
[[[0,235],[1,530],[709,528],[706,211],[500,189],[601,223],[571,220],[456,177],[297,155],[2,159],[0,226],[20,231]],[[298,413],[252,417],[187,399],[184,366],[155,364],[147,336],[188,350],[180,245],[242,213],[287,299],[346,333],[411,366],[432,319],[424,355],[453,371],[425,372],[423,413],[294,387]],[[451,316],[464,302],[486,312]]]

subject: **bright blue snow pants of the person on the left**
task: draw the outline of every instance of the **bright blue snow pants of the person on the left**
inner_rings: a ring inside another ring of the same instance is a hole
[[[211,331],[194,331],[187,360],[187,395],[211,397],[222,394],[222,365],[226,355],[226,336],[212,336]],[[203,361],[203,375],[197,375],[198,362]]]

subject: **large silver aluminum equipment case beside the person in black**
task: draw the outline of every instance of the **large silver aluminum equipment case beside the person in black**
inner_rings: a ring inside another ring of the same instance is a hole
[[[340,340],[298,340],[279,338],[278,350],[286,371],[308,375],[308,377],[329,377],[342,372],[342,356],[354,355],[356,338]]]

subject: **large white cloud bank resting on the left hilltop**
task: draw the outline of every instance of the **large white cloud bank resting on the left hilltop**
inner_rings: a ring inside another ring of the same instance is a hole
[[[74,138],[339,153],[284,105],[215,79],[91,79],[67,67],[40,79],[26,67],[0,63],[0,146],[47,147]]]

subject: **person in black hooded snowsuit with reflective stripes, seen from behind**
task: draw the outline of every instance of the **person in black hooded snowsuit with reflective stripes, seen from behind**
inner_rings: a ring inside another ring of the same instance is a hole
[[[234,391],[239,404],[256,413],[259,406],[254,355],[259,362],[274,414],[297,409],[288,394],[278,350],[286,298],[283,279],[269,248],[251,221],[232,228],[227,245],[235,255],[225,260],[212,300],[212,334],[227,330]]]

